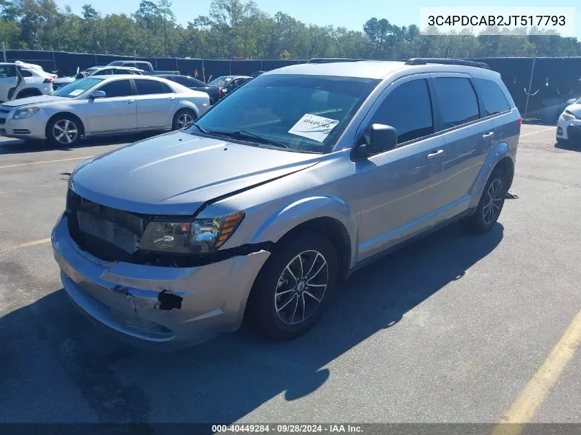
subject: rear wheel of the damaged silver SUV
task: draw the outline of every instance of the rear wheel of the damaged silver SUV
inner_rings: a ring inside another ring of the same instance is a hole
[[[508,180],[504,171],[501,168],[495,168],[486,181],[476,211],[471,216],[461,219],[465,232],[484,234],[492,230],[503,210],[507,191]]]

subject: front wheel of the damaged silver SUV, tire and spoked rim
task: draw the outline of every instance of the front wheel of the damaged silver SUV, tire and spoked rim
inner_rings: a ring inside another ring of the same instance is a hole
[[[296,338],[320,319],[337,278],[337,254],[327,238],[311,232],[287,238],[256,278],[246,317],[265,337]]]

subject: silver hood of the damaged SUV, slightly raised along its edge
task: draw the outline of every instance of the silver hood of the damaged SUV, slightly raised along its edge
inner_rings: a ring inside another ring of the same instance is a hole
[[[249,146],[182,131],[83,161],[70,186],[81,197],[129,212],[192,215],[227,196],[312,166],[320,154]]]

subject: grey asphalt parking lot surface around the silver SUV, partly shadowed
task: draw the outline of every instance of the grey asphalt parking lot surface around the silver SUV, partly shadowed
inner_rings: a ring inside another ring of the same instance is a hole
[[[531,421],[581,423],[581,353],[547,359],[581,308],[581,146],[556,146],[555,129],[523,126],[518,198],[490,234],[452,225],[358,271],[293,342],[243,328],[163,354],[89,324],[48,241],[61,173],[139,137],[3,140],[0,422],[496,423],[520,400]]]

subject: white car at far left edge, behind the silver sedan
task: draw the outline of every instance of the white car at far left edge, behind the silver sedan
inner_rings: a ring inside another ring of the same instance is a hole
[[[46,95],[53,91],[53,81],[54,74],[38,65],[0,63],[0,102]]]

